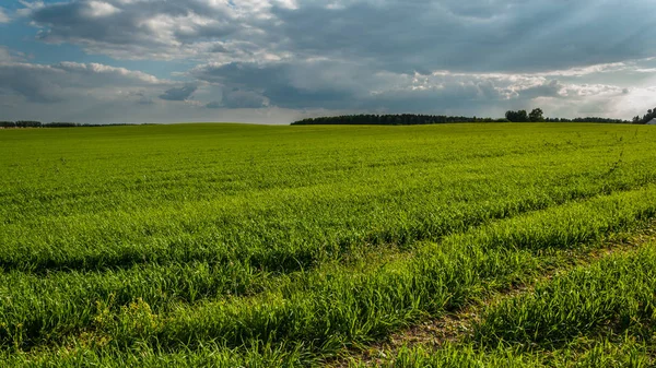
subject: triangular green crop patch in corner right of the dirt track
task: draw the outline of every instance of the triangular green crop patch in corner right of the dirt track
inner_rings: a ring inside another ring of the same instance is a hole
[[[402,347],[382,365],[652,367],[656,363],[655,289],[656,242],[652,240],[489,307],[460,343],[438,349]]]

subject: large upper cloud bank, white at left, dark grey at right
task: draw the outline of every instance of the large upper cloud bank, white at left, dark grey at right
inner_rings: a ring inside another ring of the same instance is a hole
[[[375,70],[549,71],[649,57],[652,2],[124,1],[25,12],[49,43],[117,58],[351,60]]]

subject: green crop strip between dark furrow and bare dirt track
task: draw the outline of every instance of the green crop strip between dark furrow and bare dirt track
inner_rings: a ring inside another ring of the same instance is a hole
[[[0,325],[5,328],[0,331],[8,347],[79,330],[72,341],[83,339],[120,352],[145,346],[175,353],[218,344],[251,352],[284,346],[329,356],[344,345],[379,339],[422,316],[440,316],[491,288],[539,273],[538,254],[544,250],[593,244],[655,214],[656,188],[649,186],[494,222],[378,265],[308,272],[250,297],[179,304],[160,313],[144,300],[102,308],[82,302],[82,310],[60,309],[59,316],[16,304],[2,314]],[[89,316],[81,330],[75,328],[78,316]],[[44,324],[45,318],[56,323]]]

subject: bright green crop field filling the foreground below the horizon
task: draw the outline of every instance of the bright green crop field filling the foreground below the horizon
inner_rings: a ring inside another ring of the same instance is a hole
[[[0,130],[0,367],[654,366],[654,218],[649,126]]]

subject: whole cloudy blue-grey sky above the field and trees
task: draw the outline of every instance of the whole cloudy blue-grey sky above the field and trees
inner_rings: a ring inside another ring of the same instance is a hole
[[[0,120],[631,119],[654,0],[2,0]]]

